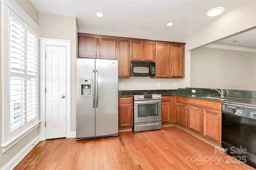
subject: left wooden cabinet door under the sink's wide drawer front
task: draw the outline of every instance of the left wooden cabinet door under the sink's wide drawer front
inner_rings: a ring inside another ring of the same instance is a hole
[[[202,134],[202,109],[199,107],[188,107],[188,128]]]

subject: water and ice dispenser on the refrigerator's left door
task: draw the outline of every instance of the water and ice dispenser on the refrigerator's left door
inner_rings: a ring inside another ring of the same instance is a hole
[[[80,79],[80,97],[92,97],[92,79]]]

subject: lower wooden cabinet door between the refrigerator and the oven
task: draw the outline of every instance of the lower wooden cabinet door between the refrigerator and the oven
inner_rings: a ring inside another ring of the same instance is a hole
[[[118,119],[119,119],[119,127],[132,127],[133,121],[133,108],[132,104],[125,105],[120,104],[118,107]]]

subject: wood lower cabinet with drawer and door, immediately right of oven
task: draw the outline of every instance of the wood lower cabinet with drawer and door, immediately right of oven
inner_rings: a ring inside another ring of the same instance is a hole
[[[174,96],[162,96],[162,123],[174,122]]]

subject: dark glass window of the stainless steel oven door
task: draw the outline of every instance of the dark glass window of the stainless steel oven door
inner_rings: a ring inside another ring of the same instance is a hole
[[[140,104],[138,105],[138,117],[159,116],[158,104]]]

